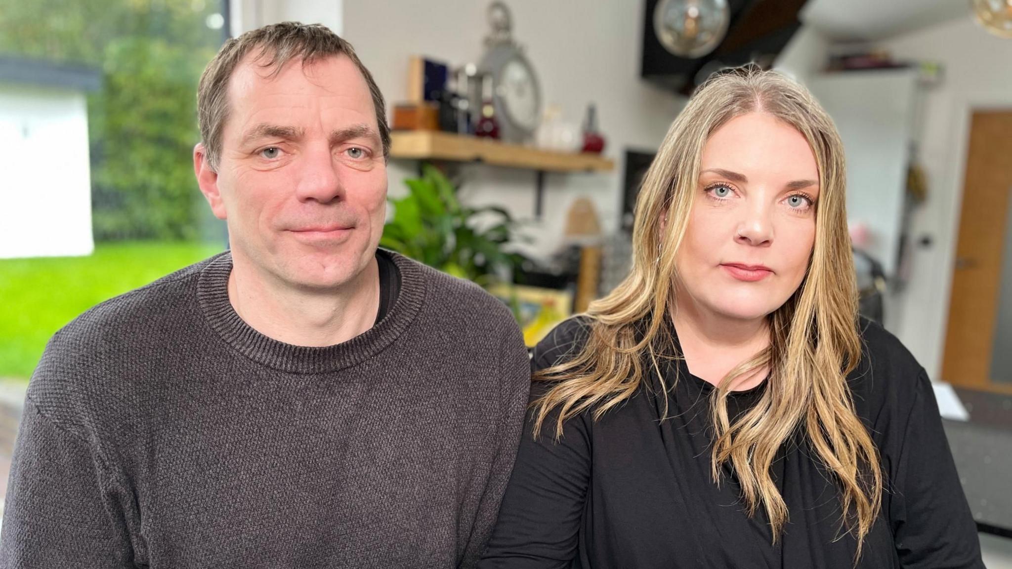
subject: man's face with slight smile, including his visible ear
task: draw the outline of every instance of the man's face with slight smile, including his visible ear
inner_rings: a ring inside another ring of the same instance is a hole
[[[337,288],[371,262],[386,220],[369,88],[345,56],[271,71],[252,56],[236,67],[218,171],[194,150],[200,189],[237,261],[287,286]]]

